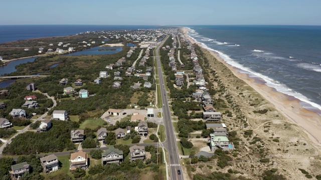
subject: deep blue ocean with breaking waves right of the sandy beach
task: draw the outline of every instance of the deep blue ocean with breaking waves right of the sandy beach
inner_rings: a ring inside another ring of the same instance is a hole
[[[321,115],[321,26],[190,25],[188,35],[240,72]]]

